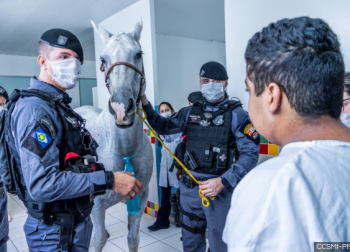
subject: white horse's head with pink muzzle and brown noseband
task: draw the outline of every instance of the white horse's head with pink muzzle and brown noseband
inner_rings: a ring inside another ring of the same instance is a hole
[[[115,117],[118,127],[130,127],[135,120],[137,99],[145,91],[140,46],[142,20],[130,33],[120,32],[118,35],[91,23],[105,44],[100,58],[110,93],[109,112]]]

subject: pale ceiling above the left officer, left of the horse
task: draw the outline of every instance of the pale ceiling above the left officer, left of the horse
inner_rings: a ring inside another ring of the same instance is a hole
[[[80,40],[86,60],[95,60],[90,23],[100,23],[138,0],[0,0],[0,54],[37,56],[46,30],[62,28]]]

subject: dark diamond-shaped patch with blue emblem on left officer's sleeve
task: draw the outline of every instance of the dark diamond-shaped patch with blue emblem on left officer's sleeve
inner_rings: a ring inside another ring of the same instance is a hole
[[[50,134],[37,122],[23,140],[22,147],[43,158],[52,143]]]

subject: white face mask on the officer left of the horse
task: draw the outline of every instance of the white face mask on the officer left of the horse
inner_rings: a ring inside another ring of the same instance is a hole
[[[53,80],[57,81],[65,89],[72,89],[77,85],[81,74],[81,63],[77,58],[49,62],[51,63],[53,74],[48,73]]]

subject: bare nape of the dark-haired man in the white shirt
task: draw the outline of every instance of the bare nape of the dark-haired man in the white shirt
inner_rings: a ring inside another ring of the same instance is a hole
[[[285,146],[293,142],[313,140],[338,140],[350,142],[350,129],[340,120],[322,116],[317,120],[300,119],[284,120],[276,126],[276,144]]]

